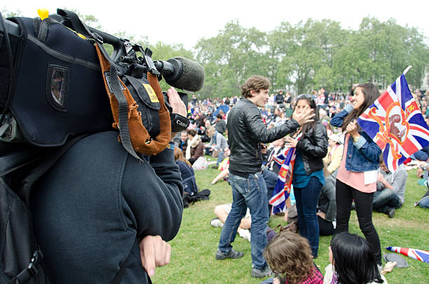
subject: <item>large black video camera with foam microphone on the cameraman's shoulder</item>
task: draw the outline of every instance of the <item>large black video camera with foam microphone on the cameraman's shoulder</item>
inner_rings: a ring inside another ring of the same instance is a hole
[[[156,137],[162,126],[159,119],[157,122],[159,106],[141,88],[148,72],[158,81],[164,78],[170,86],[187,92],[203,87],[205,72],[197,62],[182,57],[154,61],[149,48],[87,27],[76,17],[63,9],[44,20],[1,17],[0,140],[13,141],[20,137],[18,131],[31,144],[59,146],[69,136],[111,129],[95,42],[113,46],[109,61],[139,104],[143,125],[151,137]],[[61,78],[55,81],[55,97],[49,83],[54,77]],[[163,95],[171,114],[166,93]],[[179,95],[187,107],[186,93]],[[173,131],[189,125],[186,118],[174,114],[171,121]]]

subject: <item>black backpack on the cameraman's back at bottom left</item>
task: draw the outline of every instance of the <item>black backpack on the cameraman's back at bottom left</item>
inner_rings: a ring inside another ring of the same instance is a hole
[[[62,147],[0,142],[0,283],[49,284],[36,244],[29,198],[33,184],[82,137]]]

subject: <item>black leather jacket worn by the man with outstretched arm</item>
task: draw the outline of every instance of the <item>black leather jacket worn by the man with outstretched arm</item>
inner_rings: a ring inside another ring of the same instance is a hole
[[[299,123],[290,119],[281,126],[268,129],[256,104],[242,98],[229,111],[226,126],[231,149],[229,170],[234,175],[247,177],[261,170],[261,142],[273,142],[292,133],[299,128]]]

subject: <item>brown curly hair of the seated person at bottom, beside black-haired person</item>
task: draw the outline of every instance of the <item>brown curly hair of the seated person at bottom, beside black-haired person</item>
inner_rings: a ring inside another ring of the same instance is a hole
[[[268,243],[264,257],[275,273],[284,274],[287,283],[306,280],[313,270],[313,256],[306,238],[282,231]]]

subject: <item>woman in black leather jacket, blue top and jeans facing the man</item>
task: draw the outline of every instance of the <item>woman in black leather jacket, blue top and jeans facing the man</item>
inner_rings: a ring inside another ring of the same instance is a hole
[[[319,224],[316,216],[320,189],[325,184],[323,161],[327,154],[327,132],[319,120],[319,111],[311,95],[299,95],[294,112],[300,114],[313,109],[314,121],[305,123],[299,130],[286,137],[286,147],[295,147],[292,184],[297,201],[299,234],[307,238],[313,257],[318,257]],[[295,139],[301,133],[301,137]]]

